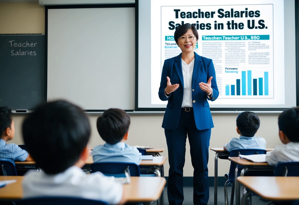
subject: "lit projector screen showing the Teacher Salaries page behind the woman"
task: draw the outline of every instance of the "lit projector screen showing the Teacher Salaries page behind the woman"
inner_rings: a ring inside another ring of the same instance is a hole
[[[136,7],[135,110],[166,108],[158,97],[162,67],[181,53],[173,34],[184,23],[198,30],[194,51],[213,60],[219,97],[208,101],[211,110],[296,106],[294,0],[152,0],[137,1]]]

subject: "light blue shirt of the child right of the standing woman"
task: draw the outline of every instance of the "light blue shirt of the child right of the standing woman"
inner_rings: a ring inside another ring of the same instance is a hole
[[[234,137],[226,145],[228,152],[233,149],[266,149],[266,140],[263,137]]]

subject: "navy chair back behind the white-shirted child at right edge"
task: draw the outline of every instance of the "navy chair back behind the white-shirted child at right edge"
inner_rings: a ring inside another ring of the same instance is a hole
[[[274,168],[274,176],[298,177],[299,162],[281,162]]]

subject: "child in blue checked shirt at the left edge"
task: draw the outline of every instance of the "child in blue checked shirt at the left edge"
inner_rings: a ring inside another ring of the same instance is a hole
[[[15,135],[15,123],[11,117],[11,109],[8,107],[0,107],[0,160],[10,161],[32,161],[26,150],[21,149],[15,143],[7,144]]]

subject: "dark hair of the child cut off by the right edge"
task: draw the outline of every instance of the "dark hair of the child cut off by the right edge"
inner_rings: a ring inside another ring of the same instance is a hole
[[[278,116],[278,128],[291,142],[299,142],[299,106],[289,108]]]

